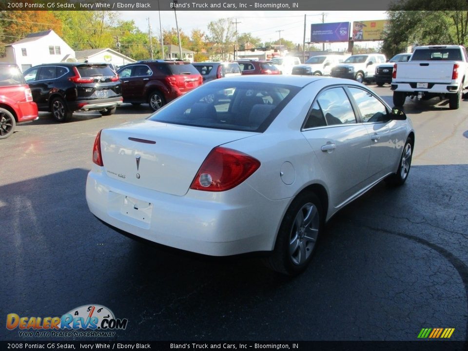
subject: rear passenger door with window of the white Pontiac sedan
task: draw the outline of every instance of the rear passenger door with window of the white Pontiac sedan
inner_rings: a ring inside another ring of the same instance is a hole
[[[333,207],[343,205],[365,185],[370,137],[358,124],[342,87],[322,91],[312,105],[302,134],[311,145]],[[311,167],[316,165],[311,164]]]

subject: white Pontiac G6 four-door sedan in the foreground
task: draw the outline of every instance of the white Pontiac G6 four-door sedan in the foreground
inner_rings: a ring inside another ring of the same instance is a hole
[[[223,78],[100,131],[86,199],[120,232],[214,256],[268,251],[297,274],[332,215],[383,179],[405,182],[413,147],[406,115],[355,81]]]

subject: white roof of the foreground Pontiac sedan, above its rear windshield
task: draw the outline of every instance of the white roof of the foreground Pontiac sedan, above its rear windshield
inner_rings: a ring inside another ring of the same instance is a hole
[[[306,85],[313,83],[315,81],[327,79],[330,80],[330,84],[347,84],[347,85],[357,85],[361,86],[362,84],[356,83],[351,79],[344,78],[331,78],[331,77],[322,77],[322,76],[294,76],[294,75],[246,75],[246,76],[236,76],[236,77],[225,77],[222,79],[223,82],[236,82],[236,81],[246,81],[252,83],[272,83],[272,84],[283,84],[283,85],[293,85],[297,87],[305,87]],[[207,83],[210,84],[210,83]]]

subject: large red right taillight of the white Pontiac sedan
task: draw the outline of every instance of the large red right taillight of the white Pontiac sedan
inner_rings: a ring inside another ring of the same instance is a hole
[[[259,167],[260,161],[254,157],[218,146],[203,161],[190,189],[212,192],[229,190]]]

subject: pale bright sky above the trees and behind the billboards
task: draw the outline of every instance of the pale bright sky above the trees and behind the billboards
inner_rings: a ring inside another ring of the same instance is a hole
[[[120,11],[121,18],[135,20],[142,31],[148,31],[148,18],[152,26],[153,35],[159,33],[159,16],[157,11]],[[324,11],[325,23],[352,22],[359,20],[385,20],[384,11]],[[263,42],[281,38],[302,43],[304,36],[304,14],[307,15],[306,41],[310,38],[311,24],[322,22],[321,11],[179,11],[177,21],[179,28],[190,35],[192,29],[207,32],[207,24],[220,18],[237,20],[239,34],[251,33]],[[174,11],[161,11],[161,24],[164,29],[176,27]],[[277,31],[281,30],[280,33]],[[327,44],[327,48],[328,48]],[[347,48],[347,43],[331,44],[331,49]],[[365,43],[362,44],[363,46]],[[372,45],[371,42],[368,45]]]

